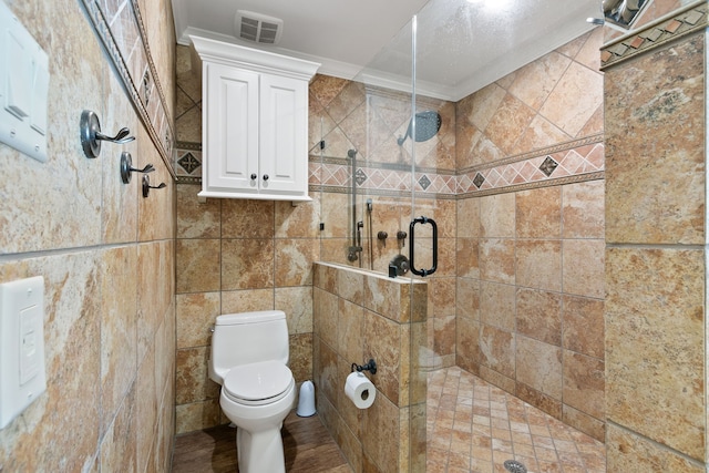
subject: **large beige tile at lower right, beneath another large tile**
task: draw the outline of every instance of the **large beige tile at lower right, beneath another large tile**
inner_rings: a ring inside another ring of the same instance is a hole
[[[692,249],[606,250],[606,415],[693,457],[705,435],[703,261]]]

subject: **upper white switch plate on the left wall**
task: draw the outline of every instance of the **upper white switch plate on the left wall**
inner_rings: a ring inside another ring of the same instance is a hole
[[[0,1],[0,142],[47,162],[49,58]]]

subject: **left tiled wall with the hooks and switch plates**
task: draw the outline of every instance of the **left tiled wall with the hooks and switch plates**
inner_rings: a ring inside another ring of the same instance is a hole
[[[160,80],[173,89],[169,2],[145,10]],[[0,281],[43,276],[48,389],[0,431],[3,471],[166,471],[174,425],[174,184],[81,2],[11,2],[49,54],[49,160],[0,144]],[[59,21],[58,19],[61,19]],[[84,109],[105,132],[86,158]],[[167,111],[172,116],[172,110]],[[143,198],[119,156],[152,163],[167,187]]]

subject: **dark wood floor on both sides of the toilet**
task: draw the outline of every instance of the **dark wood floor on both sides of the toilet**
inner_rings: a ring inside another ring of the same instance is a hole
[[[281,431],[286,471],[289,473],[351,473],[320,418],[288,414]],[[173,473],[234,473],[236,429],[227,425],[192,432],[175,441]]]

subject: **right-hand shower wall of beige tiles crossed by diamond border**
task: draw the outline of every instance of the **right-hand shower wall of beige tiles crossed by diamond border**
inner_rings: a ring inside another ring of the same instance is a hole
[[[458,364],[604,439],[602,30],[458,104]]]

